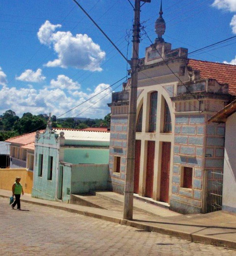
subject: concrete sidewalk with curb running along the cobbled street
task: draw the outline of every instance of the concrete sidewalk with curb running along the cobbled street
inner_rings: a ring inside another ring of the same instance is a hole
[[[0,189],[0,196],[8,198],[11,196],[11,191]],[[22,196],[21,201],[100,218],[143,230],[184,238],[190,241],[236,249],[236,214],[225,211],[212,212],[210,214],[163,217],[134,210],[134,219],[124,220],[122,212],[118,210],[99,209],[47,201],[32,198],[29,194]],[[8,200],[6,200],[6,203],[9,203]]]

